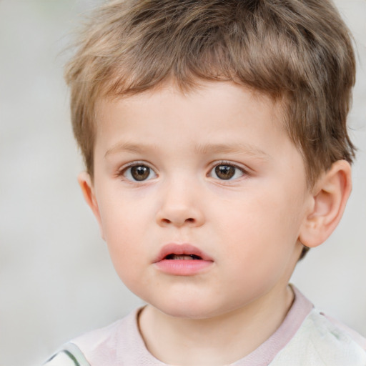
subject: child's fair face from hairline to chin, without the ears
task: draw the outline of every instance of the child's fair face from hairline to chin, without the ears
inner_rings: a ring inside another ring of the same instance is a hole
[[[97,115],[92,207],[127,287],[194,318],[285,290],[311,195],[276,104],[213,82],[102,101]]]

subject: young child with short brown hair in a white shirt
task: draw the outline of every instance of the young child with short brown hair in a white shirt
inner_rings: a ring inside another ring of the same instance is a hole
[[[330,1],[111,1],[66,80],[79,184],[147,305],[46,365],[366,365],[288,284],[351,190],[355,58]]]

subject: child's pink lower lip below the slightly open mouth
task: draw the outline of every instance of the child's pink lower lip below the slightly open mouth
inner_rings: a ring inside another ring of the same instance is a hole
[[[192,276],[212,264],[212,261],[202,259],[162,259],[155,263],[162,272],[175,276]]]

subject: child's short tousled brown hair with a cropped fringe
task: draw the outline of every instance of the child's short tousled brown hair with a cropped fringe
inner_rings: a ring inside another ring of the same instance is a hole
[[[355,84],[347,26],[330,0],[117,0],[95,11],[66,66],[71,118],[93,174],[94,105],[173,79],[229,80],[279,101],[309,184],[352,162],[346,119]]]

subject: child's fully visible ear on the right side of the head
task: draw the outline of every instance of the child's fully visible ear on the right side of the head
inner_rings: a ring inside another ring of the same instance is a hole
[[[317,247],[325,242],[340,222],[351,190],[350,164],[338,160],[312,189],[312,209],[300,229],[302,244]]]

